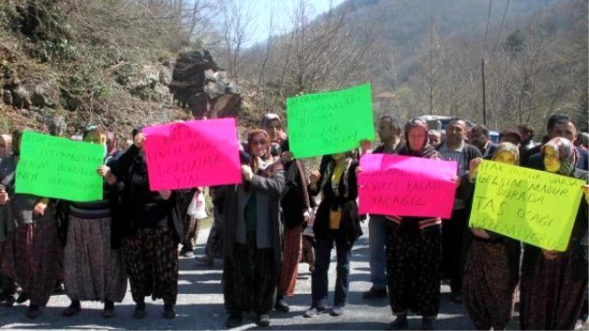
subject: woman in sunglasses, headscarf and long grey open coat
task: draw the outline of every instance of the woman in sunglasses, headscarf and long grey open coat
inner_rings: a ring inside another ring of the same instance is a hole
[[[223,208],[223,297],[229,315],[226,326],[241,324],[243,312],[254,312],[256,324],[270,325],[268,312],[276,299],[282,260],[280,194],[282,164],[270,153],[266,131],[247,137],[249,160],[241,166],[243,183],[217,189]]]

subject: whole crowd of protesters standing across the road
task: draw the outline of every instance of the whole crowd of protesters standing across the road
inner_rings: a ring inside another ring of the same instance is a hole
[[[363,297],[388,296],[394,319],[387,330],[409,327],[411,312],[422,316],[422,330],[435,330],[443,280],[477,330],[504,330],[516,302],[524,331],[582,326],[589,313],[587,187],[564,252],[469,228],[468,220],[482,160],[588,182],[589,134],[580,133],[573,118],[563,114],[548,118],[541,144],[534,143],[528,125],[501,131],[498,144],[487,127],[469,128],[460,118],[452,119],[445,132],[430,129],[421,118],[402,128],[396,118],[383,115],[376,127],[378,147],[370,151],[362,141],[358,150],[325,155],[320,167],[307,173],[290,152],[281,118],[264,115],[260,128],[241,145],[242,183],[208,188],[214,224],[204,256],[196,259],[209,266],[223,260],[226,327],[240,326],[243,313],[255,313],[257,325],[264,327],[270,325],[272,309],[288,312],[299,262],[309,263],[312,272],[304,316],[344,315],[352,248],[362,236],[363,220],[369,223],[372,282]],[[199,229],[188,205],[205,189],[151,191],[141,128],[133,131],[133,144],[120,151],[114,134],[89,125],[82,140],[104,146],[104,165],[96,174],[102,178],[102,200],[79,203],[16,193],[24,130],[0,135],[2,306],[28,302],[27,317],[34,319],[56,282],[63,281],[71,299],[63,316],[80,313],[84,301],[100,301],[102,315],[112,317],[129,284],[133,317],[145,317],[149,296],[163,299],[164,318],[176,317],[178,254],[192,254]],[[451,217],[360,215],[359,157],[369,153],[456,161]],[[334,247],[335,296],[328,309]]]

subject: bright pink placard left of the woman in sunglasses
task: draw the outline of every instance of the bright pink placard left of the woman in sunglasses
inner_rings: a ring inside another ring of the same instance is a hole
[[[156,125],[143,133],[152,191],[241,183],[234,118]]]

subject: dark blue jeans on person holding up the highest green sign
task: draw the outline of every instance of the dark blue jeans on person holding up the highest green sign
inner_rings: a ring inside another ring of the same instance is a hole
[[[337,254],[337,277],[333,305],[343,307],[347,303],[352,247],[344,244],[343,240],[336,239],[335,231],[331,230],[327,235],[327,239],[316,239],[315,241],[315,271],[311,280],[312,306],[315,308],[325,308],[327,306],[327,288],[329,287],[327,272],[329,271],[334,241]]]

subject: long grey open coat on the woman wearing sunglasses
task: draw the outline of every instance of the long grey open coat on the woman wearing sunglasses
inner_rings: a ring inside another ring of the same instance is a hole
[[[284,170],[280,168],[275,170],[272,177],[266,178],[254,175],[250,182],[250,191],[255,191],[269,199],[267,206],[269,208],[270,232],[272,237],[272,249],[274,251],[275,266],[279,267],[282,262],[282,222],[280,212],[280,194],[284,189]],[[216,198],[224,197],[225,204],[223,207],[223,229],[221,230],[223,247],[223,257],[230,258],[233,256],[237,238],[237,228],[239,217],[239,185],[224,186],[216,191]]]

